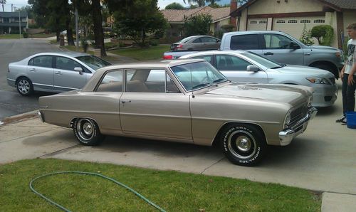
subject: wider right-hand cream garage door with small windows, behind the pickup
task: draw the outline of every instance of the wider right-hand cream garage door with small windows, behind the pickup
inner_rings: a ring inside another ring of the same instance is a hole
[[[307,30],[313,28],[313,26],[325,24],[325,16],[303,18],[273,18],[274,31],[283,31],[298,39],[302,34],[304,24]],[[318,41],[316,41],[315,44],[318,44]]]

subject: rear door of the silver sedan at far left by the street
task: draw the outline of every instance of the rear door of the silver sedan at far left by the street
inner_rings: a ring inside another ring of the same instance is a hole
[[[32,81],[33,87],[43,90],[53,90],[53,68],[52,55],[41,55],[31,58],[28,61],[28,78]]]

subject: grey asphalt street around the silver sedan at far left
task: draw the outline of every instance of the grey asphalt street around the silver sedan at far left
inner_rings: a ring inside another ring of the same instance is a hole
[[[50,95],[36,92],[30,97],[19,95],[16,88],[6,83],[8,65],[30,55],[48,51],[61,51],[56,46],[48,44],[46,39],[1,39],[0,40],[0,121],[4,117],[21,114],[38,109],[38,97]]]

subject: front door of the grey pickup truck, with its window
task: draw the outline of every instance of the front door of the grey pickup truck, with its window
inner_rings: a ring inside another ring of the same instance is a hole
[[[290,38],[278,34],[263,34],[263,57],[284,64],[304,64],[303,48],[293,48]]]

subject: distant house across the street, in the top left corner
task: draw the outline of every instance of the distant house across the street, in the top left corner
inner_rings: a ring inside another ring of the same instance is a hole
[[[0,34],[19,33],[28,28],[28,16],[26,12],[0,12]]]

